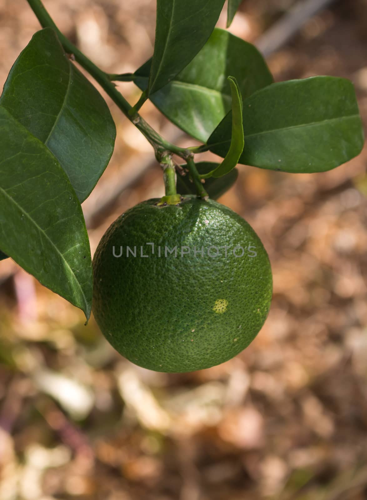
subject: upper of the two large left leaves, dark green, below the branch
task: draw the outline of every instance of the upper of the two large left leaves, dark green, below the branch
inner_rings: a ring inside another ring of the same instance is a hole
[[[0,104],[52,151],[83,201],[108,164],[116,130],[104,99],[51,28],[37,31],[20,53]]]

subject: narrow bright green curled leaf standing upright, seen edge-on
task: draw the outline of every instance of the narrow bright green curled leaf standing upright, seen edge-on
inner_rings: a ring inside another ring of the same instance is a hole
[[[238,84],[233,76],[228,76],[232,92],[232,135],[230,146],[223,161],[205,177],[221,177],[230,172],[236,164],[243,149],[242,98]]]

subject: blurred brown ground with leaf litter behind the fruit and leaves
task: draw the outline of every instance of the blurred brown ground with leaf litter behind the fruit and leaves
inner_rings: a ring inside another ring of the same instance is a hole
[[[292,0],[245,0],[231,31],[255,40]],[[153,0],[48,0],[60,29],[103,69],[152,52]],[[223,26],[225,16],[219,24]],[[269,58],[276,80],[350,78],[367,122],[367,2],[336,1]],[[0,0],[0,84],[38,23]],[[134,102],[138,91],[120,85]],[[139,132],[108,101],[115,152],[83,204],[92,251],[127,207],[163,193]],[[149,103],[165,136],[193,144]],[[367,498],[366,151],[320,174],[240,167],[221,202],[260,235],[274,298],[257,338],[220,366],[138,368],[93,319],[0,263],[1,500],[362,500]],[[131,183],[139,170],[140,180]],[[129,183],[100,212],[116,179]]]

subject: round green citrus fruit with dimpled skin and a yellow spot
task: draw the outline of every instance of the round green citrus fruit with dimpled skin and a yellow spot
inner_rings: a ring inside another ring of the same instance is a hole
[[[112,346],[139,366],[208,368],[238,354],[264,323],[269,259],[230,208],[193,195],[179,205],[157,202],[130,208],[102,236],[93,258],[94,317]],[[169,253],[175,246],[176,256]]]

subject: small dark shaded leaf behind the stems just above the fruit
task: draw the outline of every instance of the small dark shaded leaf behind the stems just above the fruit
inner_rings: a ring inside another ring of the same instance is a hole
[[[218,166],[218,163],[212,161],[198,161],[195,163],[197,171],[200,175],[214,170]],[[183,169],[187,168],[187,165],[181,165]],[[224,194],[236,181],[238,177],[237,168],[233,168],[229,173],[223,175],[220,178],[210,177],[205,179],[205,190],[210,196],[210,198],[217,199],[219,196]],[[176,189],[179,194],[196,194],[195,185],[190,181],[189,175],[182,175],[179,171],[177,172]]]

